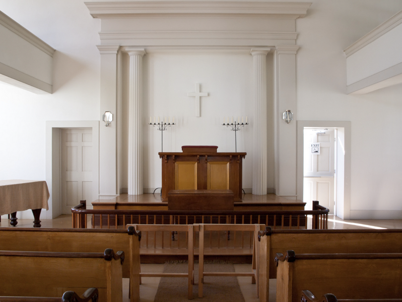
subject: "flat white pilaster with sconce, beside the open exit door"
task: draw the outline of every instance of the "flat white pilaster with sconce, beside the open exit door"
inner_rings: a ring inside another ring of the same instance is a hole
[[[276,46],[275,69],[275,194],[296,199],[296,45]],[[282,119],[283,112],[293,112],[289,124]]]

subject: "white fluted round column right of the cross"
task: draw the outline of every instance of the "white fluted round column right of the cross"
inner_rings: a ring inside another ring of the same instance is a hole
[[[253,194],[267,194],[267,54],[269,49],[252,49],[253,55]]]

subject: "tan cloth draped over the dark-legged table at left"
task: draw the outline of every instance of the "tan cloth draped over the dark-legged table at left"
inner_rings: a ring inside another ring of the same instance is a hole
[[[49,209],[46,181],[0,180],[0,215],[28,209]]]

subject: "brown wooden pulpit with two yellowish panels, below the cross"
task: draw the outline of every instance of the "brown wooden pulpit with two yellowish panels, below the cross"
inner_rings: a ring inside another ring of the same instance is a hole
[[[217,146],[183,146],[183,152],[159,152],[162,201],[170,190],[231,190],[242,197],[242,162],[246,152],[217,152]]]

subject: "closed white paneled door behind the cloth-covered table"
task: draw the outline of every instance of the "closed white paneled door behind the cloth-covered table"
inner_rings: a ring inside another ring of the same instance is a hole
[[[61,147],[62,214],[71,214],[79,201],[92,201],[92,129],[63,129]]]

